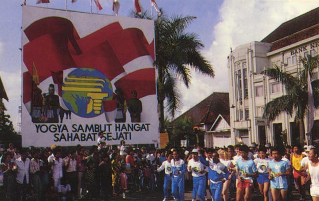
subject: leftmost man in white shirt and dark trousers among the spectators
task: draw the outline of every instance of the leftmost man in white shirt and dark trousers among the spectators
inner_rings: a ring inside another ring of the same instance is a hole
[[[15,160],[16,181],[19,200],[25,200],[29,186],[30,159],[28,150],[22,150],[21,156]]]

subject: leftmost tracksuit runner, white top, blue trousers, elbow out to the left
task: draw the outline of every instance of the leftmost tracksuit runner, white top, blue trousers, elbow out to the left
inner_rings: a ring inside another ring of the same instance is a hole
[[[162,171],[163,169],[165,169],[165,177],[164,177],[164,199],[163,201],[166,201],[166,199],[168,199],[168,187],[171,184],[171,165],[170,165],[170,161],[173,158],[173,155],[171,155],[171,153],[167,154],[167,160],[165,160],[162,165],[157,168],[157,172]]]

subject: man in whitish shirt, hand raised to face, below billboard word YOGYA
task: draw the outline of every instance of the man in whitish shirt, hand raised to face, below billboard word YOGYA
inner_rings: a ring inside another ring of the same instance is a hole
[[[54,190],[58,191],[58,186],[61,184],[61,178],[63,177],[63,159],[61,158],[61,148],[56,147],[53,150],[53,154],[47,158],[47,161],[51,164],[51,176],[54,183]]]

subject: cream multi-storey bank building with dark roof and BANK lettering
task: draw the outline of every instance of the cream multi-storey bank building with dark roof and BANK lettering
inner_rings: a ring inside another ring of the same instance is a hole
[[[265,68],[279,66],[298,75],[300,56],[319,53],[319,8],[281,24],[260,42],[235,47],[228,56],[229,100],[232,143],[242,140],[271,145],[292,145],[299,139],[295,114],[281,113],[270,122],[263,119],[265,104],[286,94],[285,86],[261,74]],[[318,79],[318,68],[312,80]],[[307,125],[307,120],[304,120]],[[305,133],[308,133],[305,126]],[[313,139],[319,138],[319,110],[315,110]],[[306,138],[306,137],[305,137]]]

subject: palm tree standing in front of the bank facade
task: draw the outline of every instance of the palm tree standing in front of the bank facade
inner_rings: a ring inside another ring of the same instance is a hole
[[[278,80],[285,86],[286,95],[275,98],[265,105],[263,118],[269,121],[274,121],[279,114],[286,112],[287,114],[295,114],[295,122],[299,123],[300,142],[305,140],[305,125],[304,118],[307,113],[308,91],[307,91],[307,75],[313,74],[313,70],[319,65],[319,55],[307,55],[307,58],[299,58],[303,68],[297,76],[293,73],[285,72],[279,66],[275,65],[274,68],[265,69],[262,73],[271,79]],[[319,80],[311,82],[314,106],[319,107]]]

